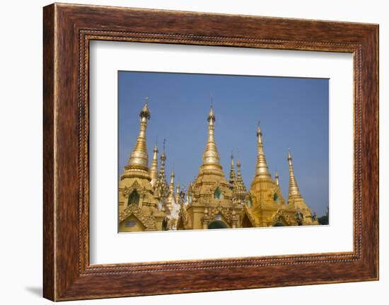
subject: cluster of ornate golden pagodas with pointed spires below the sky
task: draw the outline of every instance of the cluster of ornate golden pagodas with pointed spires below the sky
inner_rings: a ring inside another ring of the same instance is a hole
[[[243,183],[240,159],[234,166],[231,154],[229,180],[223,173],[215,142],[216,115],[211,106],[207,117],[208,137],[197,177],[186,192],[180,183],[175,188],[175,173],[166,181],[165,140],[158,164],[158,146],[153,149],[149,168],[146,146],[147,105],[139,113],[137,142],[119,182],[119,231],[164,231],[190,229],[234,229],[259,226],[315,225],[318,219],[303,199],[288,152],[289,195],[284,200],[279,175],[274,179],[267,166],[262,131],[257,127],[255,175],[247,190]],[[159,165],[159,169],[158,169]]]

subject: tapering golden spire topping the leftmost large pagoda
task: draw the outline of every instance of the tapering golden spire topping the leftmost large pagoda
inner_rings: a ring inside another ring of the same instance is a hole
[[[146,130],[147,130],[147,121],[150,120],[150,110],[147,107],[147,100],[145,99],[144,107],[139,113],[141,118],[141,125],[139,127],[139,135],[137,138],[137,144],[135,144],[134,149],[132,150],[131,155],[128,160],[128,168],[141,169],[144,171],[149,171],[149,156],[147,154],[146,147]]]

